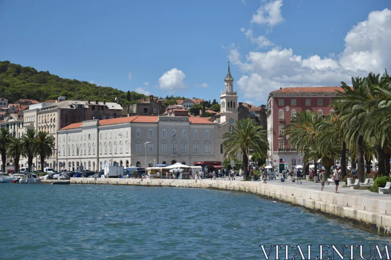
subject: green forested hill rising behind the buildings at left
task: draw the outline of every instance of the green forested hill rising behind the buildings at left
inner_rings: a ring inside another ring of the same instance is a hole
[[[15,102],[19,99],[38,101],[68,99],[103,100],[115,102],[120,98],[121,104],[134,104],[145,95],[134,91],[124,92],[112,87],[101,87],[87,81],[63,79],[48,71],[38,72],[32,67],[23,67],[8,60],[0,61],[0,97]]]

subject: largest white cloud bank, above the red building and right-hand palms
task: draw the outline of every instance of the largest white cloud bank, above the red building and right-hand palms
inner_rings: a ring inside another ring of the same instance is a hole
[[[345,37],[345,49],[328,57],[295,55],[291,48],[275,46],[269,51],[251,51],[241,55],[238,48],[229,52],[229,59],[244,75],[237,81],[244,98],[265,102],[271,91],[280,87],[337,86],[350,83],[352,76],[369,72],[384,73],[391,67],[391,11],[373,11]]]

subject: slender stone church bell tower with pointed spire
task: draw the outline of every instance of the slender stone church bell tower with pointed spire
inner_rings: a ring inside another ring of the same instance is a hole
[[[234,78],[231,76],[228,61],[228,73],[224,79],[225,91],[221,91],[220,96],[220,124],[226,122],[226,132],[230,132],[229,124],[234,124],[238,120],[238,92],[234,91]]]

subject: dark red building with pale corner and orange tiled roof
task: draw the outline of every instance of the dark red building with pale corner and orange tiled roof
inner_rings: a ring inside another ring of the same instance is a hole
[[[331,99],[342,91],[341,87],[287,87],[269,94],[267,100],[267,139],[270,151],[268,165],[280,169],[291,169],[302,165],[303,157],[289,144],[283,127],[301,111],[313,111],[318,115],[328,115],[333,111]]]

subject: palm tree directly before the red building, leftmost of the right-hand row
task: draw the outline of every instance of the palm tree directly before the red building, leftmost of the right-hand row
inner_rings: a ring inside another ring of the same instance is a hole
[[[284,134],[289,137],[289,143],[296,146],[297,151],[305,153],[311,147],[317,145],[317,137],[320,134],[319,127],[321,126],[322,118],[314,112],[299,112],[296,117],[292,118],[290,124],[284,127]],[[307,167],[309,160],[314,160],[316,165],[320,158],[315,152],[311,153],[312,157],[304,156],[303,165]],[[314,167],[315,175],[317,174],[317,167]]]

